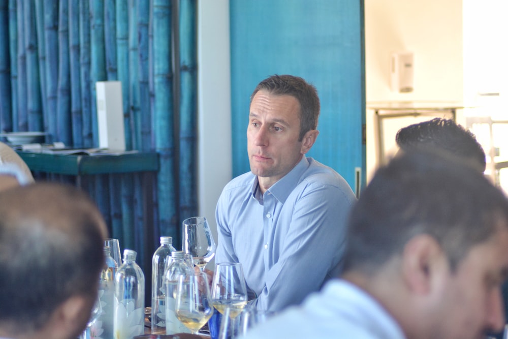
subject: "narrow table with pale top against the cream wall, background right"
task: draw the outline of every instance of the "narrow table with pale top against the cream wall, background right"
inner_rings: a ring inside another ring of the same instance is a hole
[[[458,109],[465,108],[462,103],[444,101],[378,101],[368,102],[367,108],[374,110],[374,125],[377,133],[377,164],[385,163],[385,135],[383,120],[407,116],[445,117],[456,121]]]

